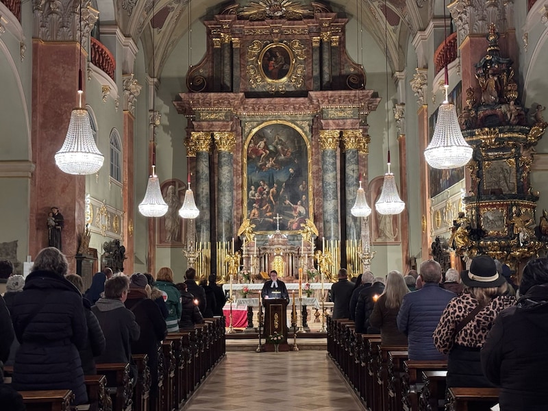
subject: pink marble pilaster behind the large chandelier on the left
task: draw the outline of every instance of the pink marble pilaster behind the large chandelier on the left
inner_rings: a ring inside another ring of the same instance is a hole
[[[30,192],[29,254],[35,258],[40,249],[47,247],[47,214],[51,206],[57,206],[64,216],[63,253],[69,260],[69,273],[75,273],[77,234],[86,224],[86,179],[63,173],[55,165],[55,153],[63,145],[71,110],[78,103],[80,49],[76,42],[37,39],[32,48],[32,161],[36,171]]]

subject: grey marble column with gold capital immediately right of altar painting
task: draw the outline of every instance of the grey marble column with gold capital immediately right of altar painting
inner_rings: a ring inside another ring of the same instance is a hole
[[[339,130],[320,130],[323,237],[338,240],[337,149]]]

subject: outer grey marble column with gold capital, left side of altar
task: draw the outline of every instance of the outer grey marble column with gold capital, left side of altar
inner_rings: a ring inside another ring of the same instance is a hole
[[[210,151],[211,134],[192,132],[190,139],[196,149],[196,206],[200,214],[196,221],[198,242],[211,241]]]

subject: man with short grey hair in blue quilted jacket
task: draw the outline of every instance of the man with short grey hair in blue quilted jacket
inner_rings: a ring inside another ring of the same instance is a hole
[[[403,297],[397,317],[398,329],[407,336],[410,360],[445,360],[447,356],[434,346],[432,333],[455,293],[438,285],[441,279],[441,266],[438,262],[423,261],[420,271],[423,286]]]

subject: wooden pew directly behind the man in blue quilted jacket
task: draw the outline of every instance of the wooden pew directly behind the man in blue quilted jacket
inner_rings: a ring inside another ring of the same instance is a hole
[[[419,390],[422,386],[423,371],[447,371],[447,360],[403,362],[404,374],[401,377],[401,402],[405,411],[419,411]],[[417,387],[419,384],[419,387]]]

